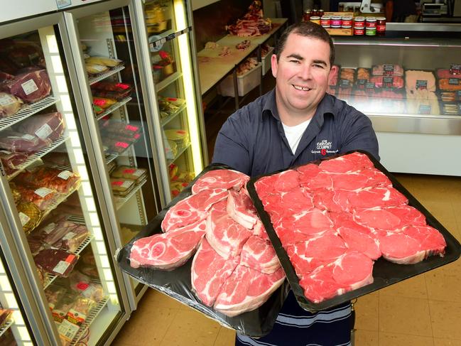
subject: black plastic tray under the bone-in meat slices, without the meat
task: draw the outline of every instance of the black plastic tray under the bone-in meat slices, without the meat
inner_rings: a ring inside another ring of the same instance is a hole
[[[212,164],[207,166],[202,173],[197,175],[200,178],[201,175],[207,171],[215,169],[232,169],[229,166],[221,164]],[[195,180],[197,180],[195,178]],[[166,293],[168,296],[175,298],[180,303],[183,303],[195,310],[200,311],[207,315],[207,317],[217,320],[217,322],[225,325],[228,328],[237,330],[239,333],[248,335],[250,337],[261,337],[268,334],[273,324],[276,322],[278,312],[283,306],[286,296],[288,295],[289,285],[287,281],[284,281],[281,287],[279,287],[269,298],[266,303],[256,310],[242,313],[232,318],[219,313],[212,308],[205,306],[192,292],[192,286],[190,284],[190,266],[192,265],[192,259],[189,259],[183,266],[180,266],[173,271],[162,271],[151,268],[137,268],[134,269],[130,266],[129,255],[131,247],[136,239],[142,237],[148,237],[155,233],[161,233],[161,222],[165,217],[166,212],[170,207],[175,205],[180,200],[188,197],[192,194],[191,188],[195,180],[181,193],[170,202],[151,222],[146,225],[144,229],[136,234],[136,237],[122,247],[116,254],[116,261],[118,262],[122,271],[129,274],[137,281],[151,287],[158,291]]]

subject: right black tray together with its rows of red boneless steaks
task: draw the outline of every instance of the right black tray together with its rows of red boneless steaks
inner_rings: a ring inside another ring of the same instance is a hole
[[[252,178],[247,187],[305,310],[331,308],[461,254],[455,237],[364,151]]]

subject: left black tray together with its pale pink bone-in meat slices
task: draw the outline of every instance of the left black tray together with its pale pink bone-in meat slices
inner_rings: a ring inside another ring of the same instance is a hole
[[[271,330],[288,291],[248,180],[227,166],[208,166],[117,258],[137,280],[259,337]]]

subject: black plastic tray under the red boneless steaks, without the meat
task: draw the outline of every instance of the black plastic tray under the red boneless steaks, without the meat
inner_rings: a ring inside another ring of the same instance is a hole
[[[333,298],[327,299],[320,303],[313,303],[304,296],[304,290],[299,284],[299,279],[298,276],[296,276],[295,269],[293,268],[293,265],[291,264],[291,261],[288,258],[288,254],[286,254],[285,249],[283,249],[280,239],[278,239],[278,236],[272,227],[271,219],[264,210],[261,200],[259,199],[254,188],[254,183],[256,182],[256,180],[259,180],[264,176],[273,175],[286,170],[273,172],[266,175],[259,175],[258,177],[251,178],[251,180],[249,180],[249,182],[246,184],[246,188],[249,191],[251,200],[253,200],[254,206],[256,207],[259,217],[261,217],[261,221],[263,222],[264,227],[266,227],[269,239],[271,239],[273,247],[276,250],[278,259],[280,259],[281,265],[283,267],[283,270],[285,271],[288,282],[290,283],[291,288],[293,289],[293,293],[295,294],[298,304],[301,306],[301,308],[308,311],[315,312],[319,310],[325,310],[327,308],[332,308],[333,306],[345,303],[359,296],[363,296],[364,294],[371,293],[386,286],[390,286],[391,284],[397,283],[398,281],[409,279],[412,276],[416,276],[418,274],[424,273],[425,271],[429,271],[431,269],[438,268],[439,266],[448,264],[458,259],[461,254],[461,245],[457,241],[457,239],[455,239],[455,237],[453,237],[452,234],[450,234],[450,232],[448,232],[448,230],[445,227],[443,227],[443,225],[441,225],[440,222],[438,222],[435,219],[435,217],[433,217],[433,215],[431,215],[430,212],[428,212],[428,210],[426,210],[425,207],[423,207],[423,205],[421,205],[421,203],[418,202],[418,200],[416,200],[416,198],[414,198],[413,195],[411,195],[411,193],[408,192],[408,190],[406,190],[406,188],[403,188],[401,183],[398,183],[396,178],[394,178],[394,176],[391,175],[391,173],[389,173],[389,171],[387,171],[386,168],[384,168],[384,166],[381,165],[381,163],[376,161],[376,159],[373,156],[371,156],[371,154],[369,154],[367,151],[357,151],[359,153],[366,154],[369,157],[369,159],[374,163],[374,166],[377,169],[379,169],[382,173],[386,174],[386,176],[391,180],[394,188],[396,188],[396,190],[400,191],[401,193],[403,193],[403,195],[406,196],[406,198],[408,198],[408,205],[411,205],[412,207],[415,207],[420,212],[422,212],[423,215],[425,215],[426,217],[428,225],[434,227],[435,229],[438,229],[438,231],[440,231],[440,233],[443,234],[445,242],[447,242],[445,256],[430,256],[428,257],[428,259],[425,259],[424,261],[421,261],[417,264],[394,264],[380,257],[377,261],[375,261],[373,266],[373,283],[370,283],[369,285],[361,288],[357,288],[356,290],[349,291],[340,296],[335,296]],[[347,153],[353,152],[354,151],[349,151]],[[337,158],[339,156],[346,155],[347,153],[329,156],[328,158],[325,158],[323,160]],[[310,163],[320,163],[323,160],[312,161]]]

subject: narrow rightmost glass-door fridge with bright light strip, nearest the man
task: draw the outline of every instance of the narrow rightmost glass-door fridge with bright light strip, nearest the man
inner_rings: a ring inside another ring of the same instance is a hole
[[[168,203],[208,162],[192,11],[184,0],[134,1],[133,9]]]

